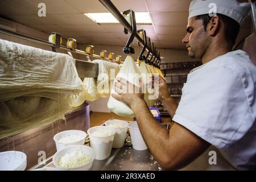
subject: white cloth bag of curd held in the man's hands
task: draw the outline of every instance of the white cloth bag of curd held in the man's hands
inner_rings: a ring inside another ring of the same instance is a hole
[[[125,78],[125,80],[139,87],[139,75],[140,75],[139,68],[135,64],[133,57],[128,55],[125,59],[125,62],[122,65],[122,68],[117,74],[117,77]],[[115,81],[117,80],[115,79]],[[114,91],[114,89],[112,89],[111,93],[117,94]],[[134,117],[134,112],[133,110],[131,110],[129,106],[127,106],[121,101],[116,100],[111,95],[108,101],[108,108],[111,111],[113,111],[113,113],[120,115],[122,117],[129,117],[129,118]]]

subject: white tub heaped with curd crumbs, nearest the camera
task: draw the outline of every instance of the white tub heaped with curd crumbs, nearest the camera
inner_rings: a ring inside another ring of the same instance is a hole
[[[92,158],[92,160],[88,164],[84,164],[83,166],[76,167],[76,168],[63,168],[57,164],[62,156],[64,156],[65,154],[71,154],[74,151],[82,151],[85,155],[89,155]],[[78,146],[68,146],[61,149],[60,151],[57,151],[53,155],[52,162],[55,165],[56,169],[59,169],[62,171],[63,170],[64,171],[88,171],[92,167],[94,159],[95,159],[95,152],[91,147],[78,145]]]

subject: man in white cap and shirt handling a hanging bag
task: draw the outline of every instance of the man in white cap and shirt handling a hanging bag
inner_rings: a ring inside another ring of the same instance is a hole
[[[208,14],[210,5],[217,14]],[[213,5],[213,6],[214,6]],[[180,169],[212,144],[237,169],[256,166],[256,67],[246,52],[232,51],[240,23],[249,12],[235,0],[192,1],[188,55],[203,65],[189,73],[179,106],[159,77],[159,99],[175,121],[170,131],[155,122],[143,94],[122,93],[134,86],[117,78],[112,96],[133,109],[145,142],[163,169]]]

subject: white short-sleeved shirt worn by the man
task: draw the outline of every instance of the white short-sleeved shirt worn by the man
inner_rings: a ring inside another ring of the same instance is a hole
[[[220,149],[237,169],[256,167],[256,67],[246,52],[193,69],[173,120]]]

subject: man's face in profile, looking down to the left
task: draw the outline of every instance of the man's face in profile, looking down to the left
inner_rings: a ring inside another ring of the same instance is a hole
[[[187,35],[182,42],[186,44],[188,56],[201,59],[210,44],[210,37],[204,29],[203,20],[192,17],[188,20]]]

